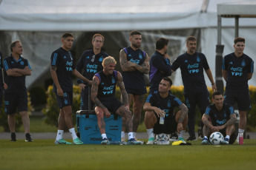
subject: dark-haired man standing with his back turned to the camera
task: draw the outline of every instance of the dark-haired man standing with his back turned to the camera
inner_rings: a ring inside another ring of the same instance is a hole
[[[162,78],[171,75],[171,64],[168,54],[168,39],[158,38],[156,42],[156,52],[149,61],[149,82],[150,92],[157,92]]]

